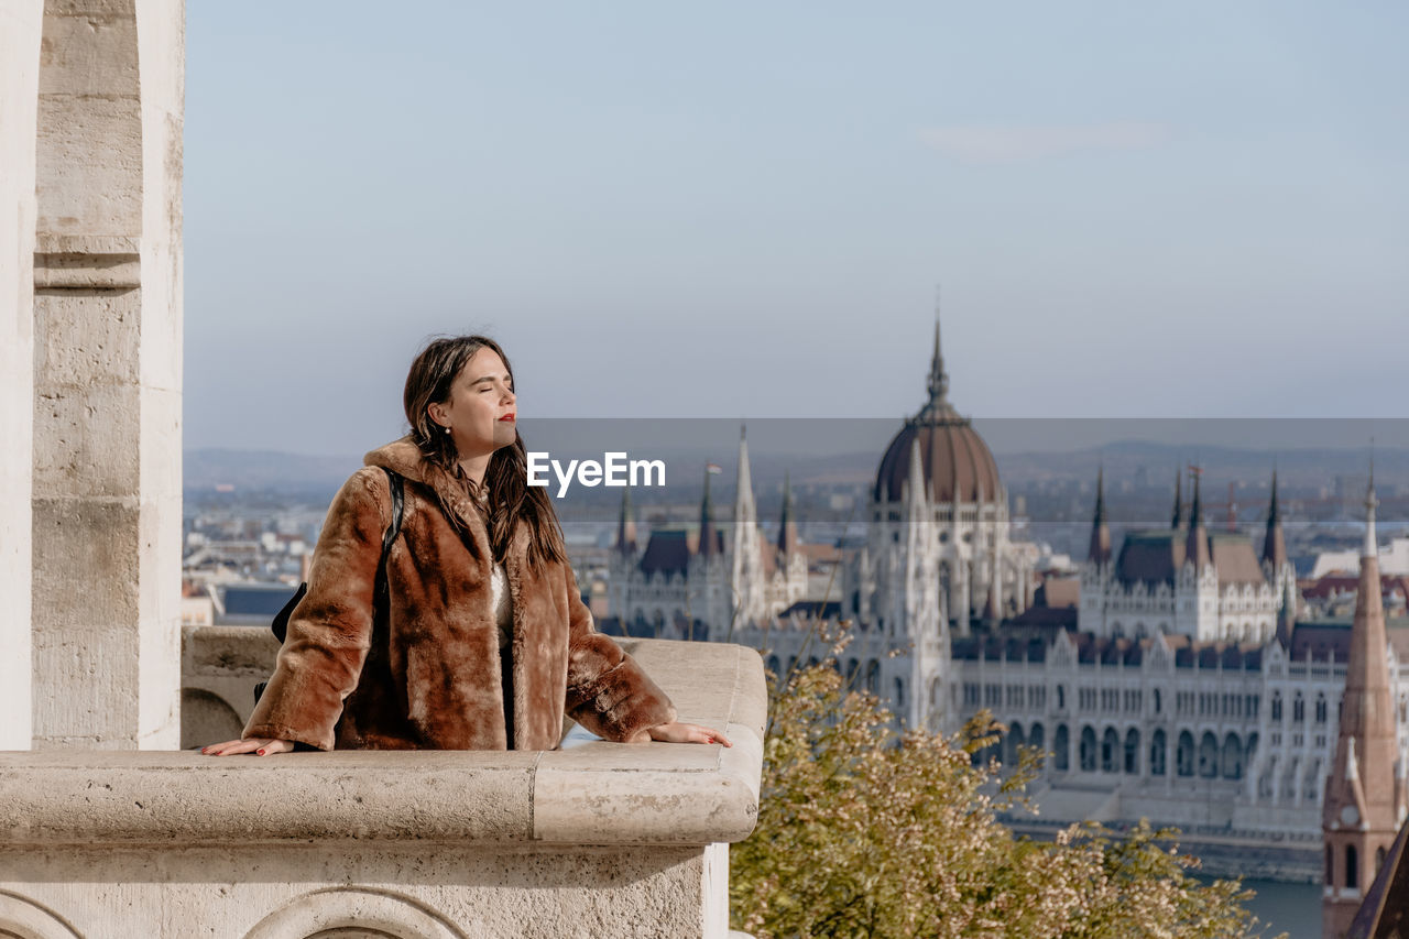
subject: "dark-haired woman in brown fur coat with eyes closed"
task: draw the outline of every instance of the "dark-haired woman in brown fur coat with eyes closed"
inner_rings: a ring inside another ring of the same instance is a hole
[[[241,740],[293,749],[552,750],[564,713],[606,740],[721,743],[681,723],[641,667],[597,633],[547,489],[527,485],[513,371],[482,336],[433,341],[406,378],[411,433],[373,450],[328,509],[309,592]],[[373,615],[386,470],[403,477]]]

